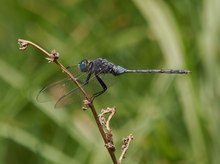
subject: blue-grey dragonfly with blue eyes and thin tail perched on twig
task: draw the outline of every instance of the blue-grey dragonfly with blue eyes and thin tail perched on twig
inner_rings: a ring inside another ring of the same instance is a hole
[[[69,69],[71,67],[67,67]],[[126,69],[122,66],[115,65],[112,62],[104,58],[96,58],[94,60],[83,59],[76,68],[77,73],[74,72],[74,76],[82,87],[87,86],[91,81],[96,80],[101,86],[101,90],[96,91],[91,96],[91,101],[93,101],[98,96],[102,95],[107,89],[107,84],[103,80],[103,75],[110,74],[113,76],[119,76],[126,73],[162,73],[162,74],[189,74],[189,70],[173,70],[173,69]],[[71,87],[69,87],[71,86]],[[73,87],[74,86],[74,87]],[[52,88],[60,87],[62,92],[57,96],[57,102],[55,107],[58,104],[62,104],[71,96],[74,95],[79,88],[73,84],[73,81],[70,78],[65,78],[60,81],[51,83],[43,87],[37,95],[37,99],[40,99],[41,95],[47,93]],[[71,89],[69,89],[69,88]],[[69,102],[71,100],[68,100]],[[64,103],[65,104],[65,103]]]

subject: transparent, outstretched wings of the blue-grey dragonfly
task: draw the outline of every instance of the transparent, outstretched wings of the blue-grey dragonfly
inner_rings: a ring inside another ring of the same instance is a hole
[[[102,90],[102,86],[96,80],[94,74],[90,77],[88,84],[85,84],[88,73],[82,73],[77,66],[68,67],[68,70],[73,73],[89,96]],[[102,71],[100,71],[97,75],[107,87],[111,86],[114,83],[113,81],[115,81],[115,76],[112,74],[102,74]],[[56,101],[55,108],[68,106],[80,100],[83,100],[83,95],[70,78],[65,78],[43,87],[37,95],[38,102]]]

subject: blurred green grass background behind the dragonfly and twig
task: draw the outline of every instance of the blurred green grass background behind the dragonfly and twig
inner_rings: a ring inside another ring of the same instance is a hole
[[[218,0],[5,1],[0,5],[0,163],[111,163],[89,111],[53,109],[35,93],[62,73],[18,38],[56,49],[61,61],[103,57],[128,68],[191,75],[127,75],[98,98],[125,163],[220,163]]]

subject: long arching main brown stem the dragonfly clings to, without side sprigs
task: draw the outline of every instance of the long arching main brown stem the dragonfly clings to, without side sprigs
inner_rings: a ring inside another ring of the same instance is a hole
[[[49,63],[51,62],[54,62],[56,63],[64,73],[67,74],[67,76],[69,76],[71,78],[71,80],[77,85],[77,87],[80,89],[80,91],[83,93],[85,99],[86,99],[86,105],[91,109],[92,113],[93,113],[93,116],[95,118],[95,121],[96,121],[96,124],[99,128],[99,131],[102,135],[102,138],[105,142],[105,145],[107,145],[109,143],[106,135],[105,135],[105,132],[103,130],[103,127],[99,121],[99,117],[98,117],[98,114],[96,112],[96,109],[95,109],[95,106],[93,105],[93,102],[90,100],[90,97],[87,95],[87,93],[85,92],[85,90],[82,88],[82,86],[80,85],[80,83],[77,81],[77,79],[74,77],[74,75],[72,73],[70,73],[68,71],[68,69],[66,69],[66,67],[64,67],[59,61],[58,61],[58,58],[59,58],[59,54],[53,50],[51,53],[48,53],[46,50],[44,50],[43,48],[41,48],[40,46],[38,46],[37,44],[31,42],[31,41],[28,41],[28,40],[24,40],[24,39],[18,39],[18,43],[20,45],[20,50],[25,50],[29,45],[37,48],[38,50],[40,50],[41,52],[44,53],[44,55],[46,55],[46,59],[48,60]],[[106,146],[107,147],[107,146]],[[113,161],[114,164],[117,164],[117,160],[116,160],[116,157],[115,157],[115,154],[114,154],[114,151],[107,147],[107,150],[111,156],[111,159]]]

